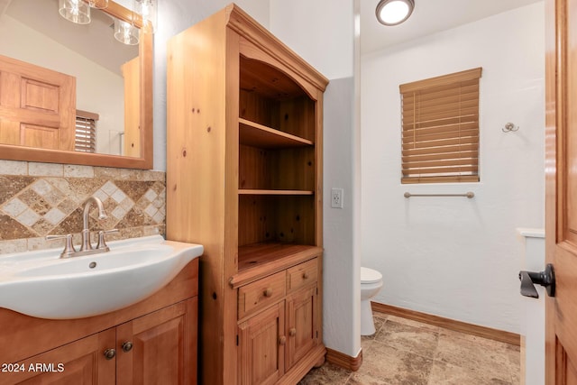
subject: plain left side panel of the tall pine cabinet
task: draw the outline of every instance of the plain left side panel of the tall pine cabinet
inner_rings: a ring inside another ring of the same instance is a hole
[[[199,382],[224,383],[224,11],[169,41],[167,238],[202,243]]]

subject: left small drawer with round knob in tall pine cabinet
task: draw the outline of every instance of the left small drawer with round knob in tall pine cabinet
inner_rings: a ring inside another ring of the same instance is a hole
[[[268,307],[285,297],[285,272],[281,271],[238,289],[238,317]]]

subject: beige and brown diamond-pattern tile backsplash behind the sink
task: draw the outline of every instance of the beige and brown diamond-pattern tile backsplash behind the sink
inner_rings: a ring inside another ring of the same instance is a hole
[[[166,174],[162,171],[0,160],[0,254],[59,248],[48,234],[73,234],[80,243],[84,203],[99,197],[88,222],[96,232],[117,228],[107,241],[165,232]]]

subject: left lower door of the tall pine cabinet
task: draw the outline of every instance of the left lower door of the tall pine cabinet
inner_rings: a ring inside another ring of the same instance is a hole
[[[239,325],[239,383],[268,385],[284,374],[284,301]]]

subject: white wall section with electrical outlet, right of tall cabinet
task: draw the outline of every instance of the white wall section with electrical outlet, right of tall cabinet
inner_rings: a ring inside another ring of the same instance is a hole
[[[270,31],[331,80],[324,105],[324,342],[356,357],[361,295],[353,220],[360,206],[353,184],[359,160],[353,129],[353,0],[271,0]],[[331,208],[331,188],[344,189],[343,209]]]

